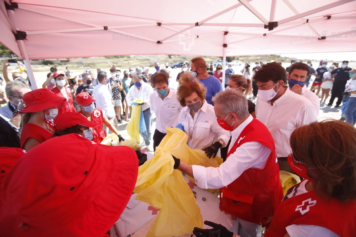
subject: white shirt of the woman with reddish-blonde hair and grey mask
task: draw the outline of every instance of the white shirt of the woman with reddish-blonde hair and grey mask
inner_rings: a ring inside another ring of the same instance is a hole
[[[186,106],[180,111],[178,123],[183,124],[184,131],[188,135],[188,146],[191,149],[204,149],[213,144],[215,136],[223,139],[225,146],[230,139],[229,131],[223,129],[216,120],[214,107],[204,100],[203,106],[194,115],[190,115],[190,109]],[[217,140],[218,140],[217,139]]]

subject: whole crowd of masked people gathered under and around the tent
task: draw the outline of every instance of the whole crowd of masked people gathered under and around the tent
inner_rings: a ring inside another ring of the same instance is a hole
[[[175,81],[168,62],[156,62],[154,74],[137,66],[123,77],[111,63],[110,75],[98,68],[97,76],[90,68],[75,76],[52,67],[40,89],[19,74],[9,78],[6,66],[0,229],[5,236],[108,232],[129,201],[138,163],[132,149],[100,142],[109,130],[124,140],[117,124],[129,121],[142,99],[146,150],[155,151],[166,128],[176,127],[191,149],[224,160],[215,168],[173,156],[174,169],[200,188],[219,189],[220,209],[237,218],[237,231],[205,221],[213,228],[194,228],[195,236],[354,236],[356,76],[348,63],[328,68],[323,60],[314,69],[311,61],[293,60],[284,69],[256,62],[252,75],[249,64],[241,74],[227,65],[223,74],[221,64],[214,70],[197,57],[184,62]],[[317,121],[330,90],[328,106],[338,97],[345,122]],[[286,195],[280,171],[302,178]]]

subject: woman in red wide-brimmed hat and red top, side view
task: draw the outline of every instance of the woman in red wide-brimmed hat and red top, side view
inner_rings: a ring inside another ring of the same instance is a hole
[[[53,136],[51,119],[57,116],[59,106],[66,99],[54,95],[46,88],[27,92],[22,97],[26,108],[19,113],[22,117],[20,147],[26,151]]]

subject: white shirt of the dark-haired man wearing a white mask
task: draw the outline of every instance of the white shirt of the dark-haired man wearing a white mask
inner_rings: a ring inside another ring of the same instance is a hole
[[[289,88],[273,103],[273,106],[270,101],[262,101],[257,97],[256,117],[272,134],[277,157],[289,155],[289,137],[295,128],[318,119],[312,102],[290,91]]]

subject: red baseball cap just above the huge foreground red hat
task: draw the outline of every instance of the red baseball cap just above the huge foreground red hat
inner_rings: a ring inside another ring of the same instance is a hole
[[[62,113],[53,119],[54,129],[56,131],[62,131],[66,128],[73,127],[75,125],[83,125],[89,128],[98,126],[97,123],[89,121],[83,114],[75,112]]]

